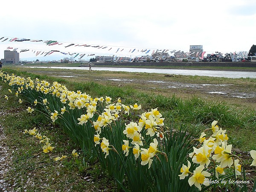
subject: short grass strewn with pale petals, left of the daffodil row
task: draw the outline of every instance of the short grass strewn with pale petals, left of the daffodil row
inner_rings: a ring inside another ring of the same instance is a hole
[[[4,129],[12,163],[5,180],[15,191],[116,191],[115,181],[103,170],[99,162],[85,159],[79,146],[64,134],[62,128],[52,125],[39,112],[28,116],[28,103],[20,104],[18,98],[8,92],[9,86],[0,82],[0,125]],[[4,95],[8,95],[6,101]],[[53,153],[42,153],[42,144],[34,137],[23,134],[24,129],[36,127],[41,135],[51,139]],[[68,158],[55,162],[55,157],[79,151],[76,159]]]

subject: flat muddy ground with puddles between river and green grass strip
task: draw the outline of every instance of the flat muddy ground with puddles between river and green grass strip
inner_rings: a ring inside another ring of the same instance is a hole
[[[228,102],[238,107],[256,109],[256,83],[250,80],[198,76],[128,73],[111,71],[58,70],[20,68],[30,73],[60,77],[71,81],[96,81],[99,84],[129,86],[142,92],[182,98],[192,96],[216,102]]]

